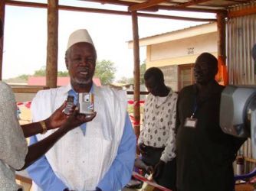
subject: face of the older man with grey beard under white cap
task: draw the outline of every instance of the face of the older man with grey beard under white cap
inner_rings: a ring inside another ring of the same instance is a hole
[[[67,52],[66,66],[73,85],[90,85],[94,76],[96,52],[92,44],[77,43]]]

